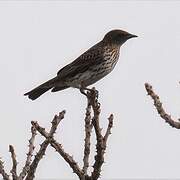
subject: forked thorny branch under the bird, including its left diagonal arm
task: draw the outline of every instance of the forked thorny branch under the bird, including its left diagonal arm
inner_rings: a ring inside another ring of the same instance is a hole
[[[98,102],[98,91],[96,91],[95,88],[93,88],[92,90],[88,91],[87,94],[83,91],[83,94],[85,94],[87,97],[87,108],[85,116],[85,142],[82,169],[79,167],[78,163],[74,160],[74,158],[63,149],[63,146],[54,139],[54,137],[51,137],[48,140],[49,133],[45,130],[45,128],[41,127],[37,122],[32,122],[32,125],[42,136],[46,138],[46,140],[49,141],[51,146],[59,153],[59,155],[63,157],[63,159],[66,161],[66,163],[69,164],[73,172],[79,177],[80,180],[97,180],[100,176],[102,164],[104,163],[106,143],[109,135],[111,134],[111,128],[113,126],[113,115],[110,115],[110,117],[108,118],[109,124],[106,129],[106,133],[103,136],[99,123],[100,103]],[[91,109],[93,110],[93,118],[91,118]],[[54,127],[53,124],[52,127]],[[92,127],[94,127],[96,134],[97,154],[95,156],[93,172],[91,173],[91,175],[88,175],[87,170],[89,167],[90,137]]]

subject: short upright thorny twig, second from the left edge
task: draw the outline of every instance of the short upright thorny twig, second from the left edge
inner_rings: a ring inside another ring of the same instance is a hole
[[[16,160],[16,154],[14,151],[14,147],[12,145],[9,145],[9,152],[11,153],[11,159],[12,159],[12,169],[11,169],[11,174],[13,176],[13,180],[17,180],[17,160]]]

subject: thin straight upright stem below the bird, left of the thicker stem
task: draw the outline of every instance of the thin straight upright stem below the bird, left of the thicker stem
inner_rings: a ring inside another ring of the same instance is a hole
[[[87,175],[87,170],[89,167],[89,155],[90,155],[90,137],[92,131],[92,124],[91,124],[91,104],[89,99],[87,100],[87,108],[86,108],[86,117],[85,117],[85,143],[84,143],[84,157],[83,157],[83,173]]]

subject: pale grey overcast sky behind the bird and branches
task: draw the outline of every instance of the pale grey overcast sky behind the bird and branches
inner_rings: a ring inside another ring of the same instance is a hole
[[[82,164],[85,97],[77,89],[48,92],[36,101],[23,94],[54,77],[109,30],[123,29],[139,37],[125,43],[114,71],[94,85],[102,126],[110,113],[115,117],[102,179],[180,178],[180,130],[164,123],[144,89],[145,82],[151,83],[167,112],[180,116],[179,17],[178,1],[1,1],[0,156],[6,168],[9,144],[19,167],[24,164],[31,120],[48,128],[63,109],[67,113],[56,139]],[[36,151],[42,140],[38,135]],[[36,177],[77,179],[51,147]]]

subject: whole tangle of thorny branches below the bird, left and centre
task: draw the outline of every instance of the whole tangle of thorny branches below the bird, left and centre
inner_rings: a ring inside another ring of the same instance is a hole
[[[36,169],[39,165],[40,160],[45,155],[46,149],[50,144],[69,166],[72,168],[73,172],[79,177],[80,180],[97,180],[100,177],[101,167],[104,163],[104,154],[106,150],[106,143],[108,140],[109,135],[111,134],[111,128],[113,126],[113,115],[111,114],[108,118],[109,123],[108,127],[105,131],[105,134],[102,134],[102,129],[100,127],[100,103],[98,102],[98,91],[95,88],[89,90],[87,89],[87,93],[82,91],[84,95],[87,97],[87,107],[86,107],[86,115],[85,115],[85,139],[84,139],[84,154],[83,154],[83,167],[80,168],[78,163],[74,160],[72,156],[69,155],[64,149],[63,146],[58,143],[54,139],[54,133],[57,130],[57,126],[64,118],[65,111],[56,115],[51,122],[50,131],[46,131],[45,128],[41,127],[38,122],[32,121],[31,127],[31,138],[29,140],[29,148],[27,153],[27,158],[22,171],[20,172],[19,176],[17,175],[17,160],[15,151],[12,145],[9,146],[9,151],[11,152],[12,158],[12,178],[13,180],[33,180],[35,177]],[[92,111],[92,112],[91,112]],[[93,113],[93,117],[91,115]],[[92,128],[94,127],[95,134],[96,134],[96,155],[95,155],[95,162],[93,165],[93,171],[90,175],[88,175],[88,168],[89,168],[89,156],[90,156],[90,137]],[[37,154],[33,156],[34,152],[34,142],[36,137],[36,131],[38,131],[42,136],[45,137],[44,142],[40,145],[40,149]],[[3,176],[4,180],[10,180],[9,175],[5,172],[3,162],[0,160],[0,174]]]

